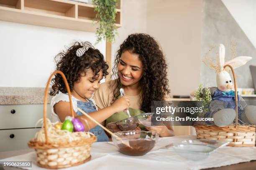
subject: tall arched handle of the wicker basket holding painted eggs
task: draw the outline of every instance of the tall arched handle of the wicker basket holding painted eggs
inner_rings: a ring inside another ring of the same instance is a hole
[[[73,110],[73,105],[72,105],[72,98],[71,98],[71,92],[70,92],[70,89],[69,89],[69,84],[67,82],[67,78],[66,76],[64,75],[63,72],[61,72],[60,70],[56,70],[54,71],[51,76],[49,77],[48,81],[47,81],[47,84],[46,84],[46,88],[45,88],[45,91],[44,91],[44,133],[45,133],[45,139],[46,139],[46,144],[48,144],[48,136],[47,136],[47,122],[46,122],[46,119],[47,119],[47,95],[48,95],[48,89],[49,89],[49,84],[51,82],[51,78],[56,75],[56,74],[60,74],[61,77],[63,78],[64,80],[64,83],[67,87],[67,92],[69,93],[69,103],[70,103],[70,111],[72,113],[72,117],[74,117],[74,110]]]

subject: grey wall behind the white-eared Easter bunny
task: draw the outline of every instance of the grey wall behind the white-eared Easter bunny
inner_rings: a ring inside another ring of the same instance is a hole
[[[226,53],[225,60],[228,61],[234,57],[231,51],[231,41],[233,47],[235,47],[236,56],[251,56],[253,57],[246,65],[235,69],[237,75],[237,86],[239,88],[253,88],[253,82],[251,78],[251,72],[249,65],[256,65],[256,48],[251,43],[249,37],[255,37],[253,30],[253,36],[246,35],[246,31],[239,25],[235,15],[246,16],[247,10],[251,10],[252,4],[247,8],[244,5],[248,5],[251,0],[244,0],[240,4],[236,3],[239,0],[234,0],[230,5],[233,7],[241,6],[243,9],[237,9],[235,13],[230,13],[227,6],[223,3],[223,0],[203,0],[202,7],[202,45],[201,45],[201,57],[205,60],[205,57],[212,57],[217,65],[218,57],[218,45],[220,43],[225,45]],[[229,5],[228,5],[229,6]],[[234,14],[234,15],[233,15]],[[244,17],[243,23],[245,25],[251,25],[256,23],[256,19],[250,19]],[[209,52],[209,50],[215,47]],[[204,85],[216,86],[216,73],[211,70],[204,63],[201,64],[201,82]],[[232,75],[231,75],[232,77]]]

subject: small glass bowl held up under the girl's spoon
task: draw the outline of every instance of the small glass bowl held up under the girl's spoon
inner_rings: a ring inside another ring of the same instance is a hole
[[[139,125],[139,121],[134,117],[129,117],[127,119],[115,122],[115,124],[120,130],[127,131],[137,128]]]

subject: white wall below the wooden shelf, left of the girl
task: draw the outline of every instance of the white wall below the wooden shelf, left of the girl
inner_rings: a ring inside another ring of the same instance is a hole
[[[45,87],[64,45],[96,41],[92,32],[0,21],[0,87]],[[105,56],[105,42],[95,46]]]

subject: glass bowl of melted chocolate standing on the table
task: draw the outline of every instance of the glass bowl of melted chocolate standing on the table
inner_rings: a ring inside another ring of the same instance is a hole
[[[131,147],[124,145],[121,140],[117,140],[112,135],[112,140],[120,153],[131,156],[141,156],[154,148],[159,138],[158,133],[150,131],[123,131],[116,132],[115,135],[127,141]]]

